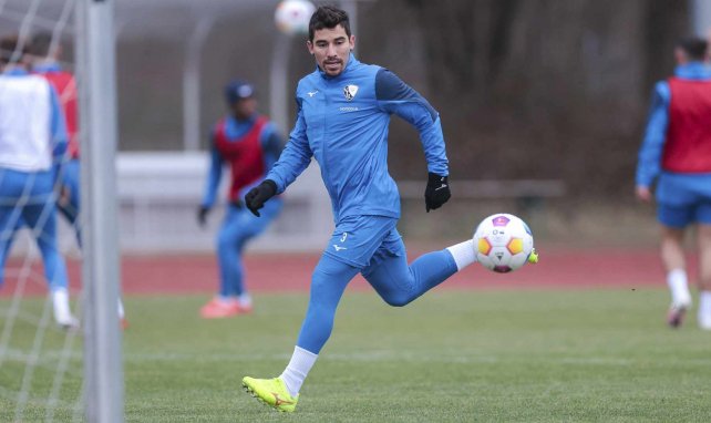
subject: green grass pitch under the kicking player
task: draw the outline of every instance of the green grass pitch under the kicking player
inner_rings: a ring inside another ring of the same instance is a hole
[[[206,299],[126,300],[127,422],[711,421],[711,333],[694,319],[667,329],[661,289],[436,291],[402,309],[349,292],[291,415],[239,381],[280,373],[307,296],[258,295],[253,316],[220,321],[197,318]],[[14,417],[17,353],[33,337],[18,323],[0,368],[1,422]],[[62,341],[47,333],[25,422],[44,419]],[[55,421],[70,420],[81,383],[81,361],[70,364]]]

